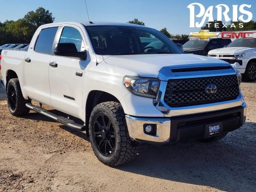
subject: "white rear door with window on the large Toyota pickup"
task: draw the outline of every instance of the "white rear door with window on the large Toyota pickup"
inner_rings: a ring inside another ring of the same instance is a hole
[[[49,63],[57,30],[58,27],[42,29],[25,56],[24,75],[28,97],[46,105],[51,105]]]

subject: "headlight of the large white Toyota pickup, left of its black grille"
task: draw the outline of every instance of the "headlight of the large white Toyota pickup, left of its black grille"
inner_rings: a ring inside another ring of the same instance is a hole
[[[156,98],[160,80],[157,78],[124,76],[124,86],[133,94],[147,98]]]

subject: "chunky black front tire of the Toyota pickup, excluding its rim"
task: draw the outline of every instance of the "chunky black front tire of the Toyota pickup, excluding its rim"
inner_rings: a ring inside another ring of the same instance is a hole
[[[99,114],[106,114],[111,119],[112,127],[115,130],[115,148],[110,156],[102,155],[93,137],[94,121]],[[118,102],[102,102],[93,108],[89,121],[89,134],[94,154],[100,162],[108,166],[130,162],[137,153],[137,147],[133,145],[129,137],[123,108]]]

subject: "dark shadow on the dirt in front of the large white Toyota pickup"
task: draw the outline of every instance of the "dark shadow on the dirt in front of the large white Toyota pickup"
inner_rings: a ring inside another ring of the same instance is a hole
[[[116,169],[225,191],[255,191],[255,137],[256,123],[246,123],[217,142],[144,146],[139,158]]]

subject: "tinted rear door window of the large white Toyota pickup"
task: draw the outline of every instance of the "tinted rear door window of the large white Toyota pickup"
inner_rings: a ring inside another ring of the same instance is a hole
[[[52,45],[58,27],[42,29],[35,45],[35,51],[40,53],[52,53]]]

